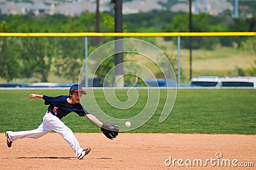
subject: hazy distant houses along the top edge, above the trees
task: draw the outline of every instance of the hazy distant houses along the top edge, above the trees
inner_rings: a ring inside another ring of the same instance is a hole
[[[167,0],[133,0],[123,3],[123,13],[151,12],[153,10],[164,10],[160,3]],[[227,0],[196,0],[192,4],[192,12],[206,12],[211,15],[218,15],[225,10],[233,10],[233,4]],[[80,15],[83,12],[95,12],[96,0],[34,0],[28,3],[26,0],[0,0],[0,10],[4,14],[26,14],[41,10],[48,14]],[[111,0],[100,0],[101,12],[113,10]],[[180,1],[170,8],[172,11],[188,12],[188,3]]]

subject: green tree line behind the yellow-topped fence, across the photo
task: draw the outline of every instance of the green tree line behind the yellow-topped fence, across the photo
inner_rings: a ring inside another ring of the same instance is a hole
[[[124,32],[188,32],[188,13],[150,12],[124,15]],[[250,19],[232,19],[227,16],[213,17],[206,13],[193,15],[193,32],[220,31],[256,31],[256,17]],[[113,13],[100,13],[100,32],[114,32]],[[0,32],[2,33],[74,33],[95,32],[95,13],[83,13],[77,17],[65,15],[1,15]],[[196,38],[193,48],[211,50],[214,44],[230,46],[233,42],[240,47],[248,37]],[[89,38],[89,54],[99,45],[114,38]],[[172,38],[165,38],[166,41]],[[173,40],[175,41],[175,40]],[[150,39],[154,43],[154,39]],[[182,43],[188,48],[188,43]],[[77,81],[77,72],[84,59],[84,39],[81,37],[0,37],[0,77],[10,82],[15,78],[39,77],[47,82],[52,70],[58,76],[70,81]],[[105,66],[111,66],[109,59]],[[104,74],[104,69],[99,74]]]

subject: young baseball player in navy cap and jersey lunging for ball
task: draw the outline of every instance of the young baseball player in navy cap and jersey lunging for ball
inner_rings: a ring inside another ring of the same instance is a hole
[[[88,113],[86,109],[79,103],[82,95],[86,95],[86,91],[79,84],[74,84],[70,87],[68,96],[61,95],[58,97],[48,97],[46,95],[31,94],[29,98],[42,98],[45,105],[49,105],[47,112],[43,118],[41,125],[34,130],[26,130],[20,132],[7,131],[6,143],[10,148],[13,141],[24,138],[39,138],[54,130],[58,132],[68,144],[70,144],[73,151],[76,153],[78,159],[83,159],[85,155],[90,153],[91,148],[83,149],[80,147],[72,130],[68,128],[61,118],[67,116],[70,112],[76,112],[79,116],[85,116],[99,127],[106,137],[114,139],[118,135],[118,127],[109,123],[102,123],[95,116]],[[110,130],[109,130],[110,129]]]

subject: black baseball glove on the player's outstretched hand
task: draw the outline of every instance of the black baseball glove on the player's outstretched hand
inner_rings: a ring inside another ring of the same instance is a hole
[[[118,126],[113,123],[103,123],[100,129],[103,132],[103,134],[106,135],[106,137],[108,137],[108,139],[111,140],[113,140],[119,132]]]

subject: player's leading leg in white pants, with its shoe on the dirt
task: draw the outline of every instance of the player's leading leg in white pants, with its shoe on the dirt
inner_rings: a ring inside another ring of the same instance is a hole
[[[55,132],[58,132],[58,134],[60,134],[65,139],[65,141],[67,141],[72,150],[76,153],[77,158],[79,158],[81,153],[84,153],[83,148],[80,147],[80,144],[78,143],[72,130],[68,128],[59,118],[49,113],[45,118],[45,123],[47,123],[48,127],[50,127]],[[86,151],[86,155],[89,152],[90,150]]]

